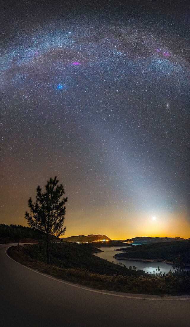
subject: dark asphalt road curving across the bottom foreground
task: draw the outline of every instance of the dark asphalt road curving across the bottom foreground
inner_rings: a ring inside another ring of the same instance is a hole
[[[2,327],[190,326],[190,299],[163,300],[65,284],[11,260],[5,253],[9,246],[0,245]]]

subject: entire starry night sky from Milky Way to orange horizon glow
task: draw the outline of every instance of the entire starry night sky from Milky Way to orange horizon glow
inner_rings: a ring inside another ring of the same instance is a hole
[[[1,217],[57,176],[65,236],[190,237],[189,9],[8,1],[1,11]]]

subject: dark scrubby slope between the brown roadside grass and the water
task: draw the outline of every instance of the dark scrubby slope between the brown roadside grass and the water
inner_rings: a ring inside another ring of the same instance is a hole
[[[46,263],[45,242],[34,245],[20,247],[22,252],[33,259]],[[75,244],[68,242],[51,243],[50,259],[51,264],[57,267],[87,269],[89,272],[107,275],[127,275],[131,274],[129,269],[120,265],[114,265],[110,261],[93,255],[100,252],[91,244]],[[132,271],[134,275],[141,272]]]

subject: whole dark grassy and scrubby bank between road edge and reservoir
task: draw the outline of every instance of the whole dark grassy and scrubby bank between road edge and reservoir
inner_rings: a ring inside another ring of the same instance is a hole
[[[52,243],[51,265],[46,264],[45,245],[24,245],[8,250],[20,263],[69,282],[111,291],[147,294],[189,294],[190,275],[186,272],[162,276],[127,269],[98,258],[91,244]]]

